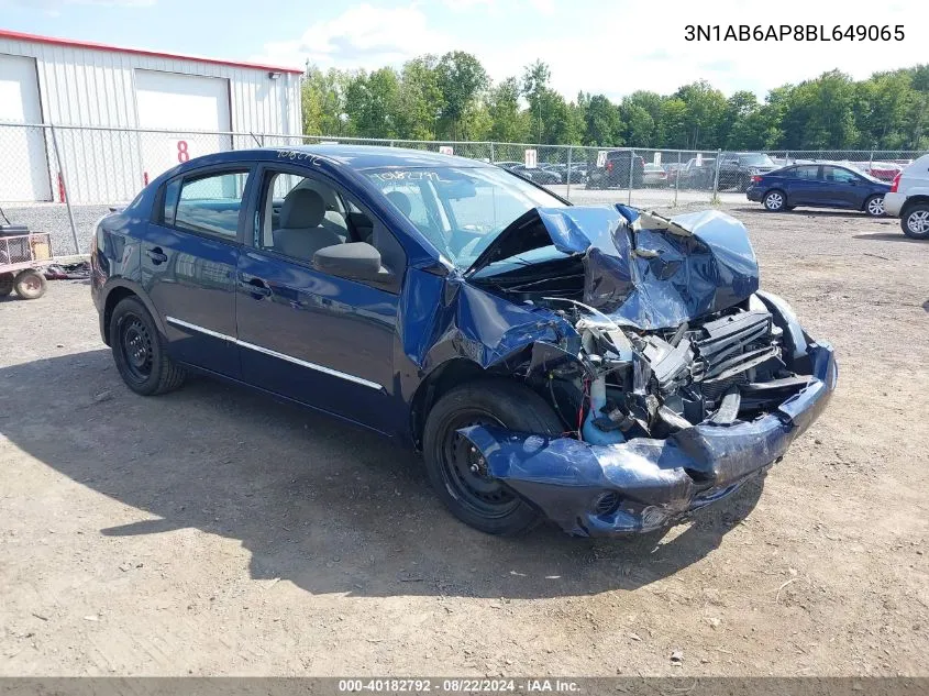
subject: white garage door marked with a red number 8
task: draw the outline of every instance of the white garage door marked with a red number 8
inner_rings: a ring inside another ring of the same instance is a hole
[[[140,133],[145,175],[162,172],[191,157],[230,150],[228,135],[196,131],[231,131],[229,80],[218,77],[135,70],[135,106],[141,129],[174,133]]]

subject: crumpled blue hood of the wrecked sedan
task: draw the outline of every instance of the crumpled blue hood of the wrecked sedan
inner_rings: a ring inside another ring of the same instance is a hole
[[[504,230],[466,275],[549,245],[583,255],[585,305],[642,330],[676,328],[759,289],[744,225],[716,210],[662,218],[626,206],[535,208]]]

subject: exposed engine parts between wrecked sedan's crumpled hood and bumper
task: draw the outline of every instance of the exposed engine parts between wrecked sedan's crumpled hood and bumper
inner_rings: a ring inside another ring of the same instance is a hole
[[[576,301],[561,303],[569,305],[560,311],[580,336],[577,360],[567,360],[568,341],[537,345],[533,363],[544,369],[562,418],[585,442],[666,438],[705,421],[750,420],[810,379],[788,368],[784,330],[755,296],[745,307],[653,332],[620,327]],[[574,411],[576,420],[568,420]]]

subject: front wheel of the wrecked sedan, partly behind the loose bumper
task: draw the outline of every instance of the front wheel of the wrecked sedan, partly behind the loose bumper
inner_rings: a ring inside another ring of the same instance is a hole
[[[529,387],[507,379],[478,379],[443,396],[425,420],[423,457],[429,480],[460,520],[488,534],[520,534],[540,521],[539,512],[487,474],[486,464],[456,431],[496,424],[556,435],[563,428],[552,407]]]

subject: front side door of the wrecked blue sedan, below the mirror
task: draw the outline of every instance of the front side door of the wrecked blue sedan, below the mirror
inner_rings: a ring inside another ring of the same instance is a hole
[[[392,355],[406,257],[394,257],[399,267],[389,285],[317,270],[319,248],[364,241],[378,246],[386,230],[333,183],[306,174],[267,167],[256,187],[251,239],[237,269],[243,378],[389,432],[397,422]],[[371,222],[360,224],[362,219]],[[385,263],[396,251],[387,246]]]

